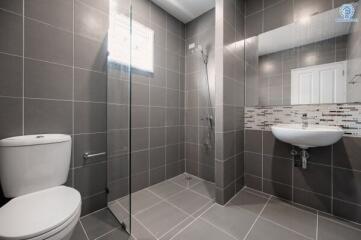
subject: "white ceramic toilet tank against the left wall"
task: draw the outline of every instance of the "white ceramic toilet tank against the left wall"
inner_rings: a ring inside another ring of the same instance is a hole
[[[0,140],[0,182],[14,198],[64,184],[71,159],[71,137],[41,134]]]

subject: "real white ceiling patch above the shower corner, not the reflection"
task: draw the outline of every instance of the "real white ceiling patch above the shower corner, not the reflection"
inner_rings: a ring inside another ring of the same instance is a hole
[[[215,0],[151,0],[183,23],[188,23],[215,6]]]

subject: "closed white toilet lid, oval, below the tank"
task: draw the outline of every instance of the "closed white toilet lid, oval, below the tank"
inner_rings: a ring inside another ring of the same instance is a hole
[[[58,186],[10,200],[0,208],[0,239],[27,239],[71,218],[81,205],[77,190]]]

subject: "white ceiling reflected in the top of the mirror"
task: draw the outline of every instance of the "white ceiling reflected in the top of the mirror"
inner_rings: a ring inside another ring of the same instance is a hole
[[[258,36],[259,56],[342,36],[350,33],[351,23],[339,23],[338,8],[312,16],[307,23],[292,24]]]

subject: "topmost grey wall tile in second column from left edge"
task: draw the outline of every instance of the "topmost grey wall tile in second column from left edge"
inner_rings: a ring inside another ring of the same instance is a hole
[[[73,31],[72,0],[27,0],[25,16],[48,23],[67,31]]]

